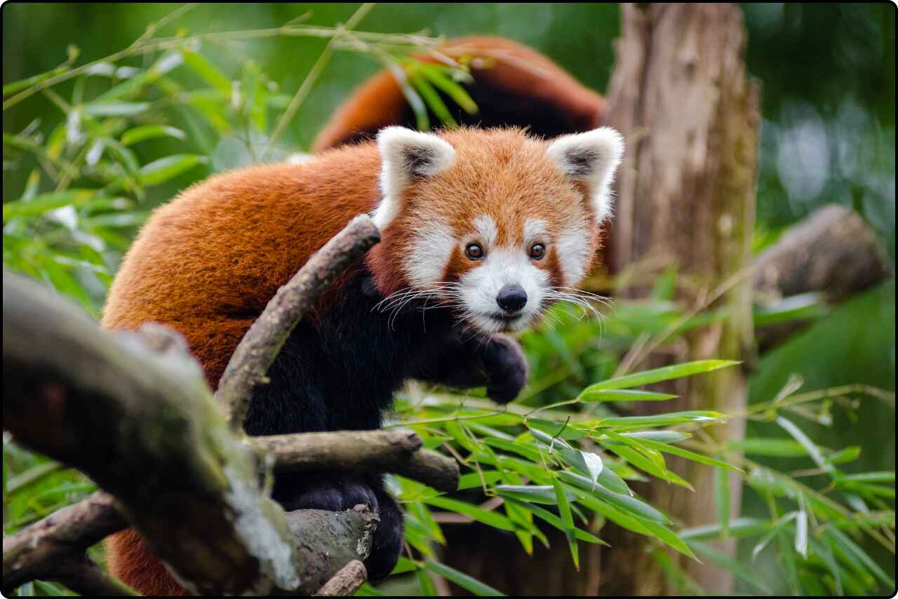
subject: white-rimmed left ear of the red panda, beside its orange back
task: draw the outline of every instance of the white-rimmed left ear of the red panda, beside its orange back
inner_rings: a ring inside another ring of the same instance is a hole
[[[377,134],[381,153],[381,194],[374,209],[374,225],[383,231],[399,215],[402,192],[409,183],[444,171],[455,160],[455,150],[431,133],[387,127]]]

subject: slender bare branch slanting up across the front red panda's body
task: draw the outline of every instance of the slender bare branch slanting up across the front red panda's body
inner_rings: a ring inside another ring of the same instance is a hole
[[[277,295],[234,350],[218,383],[216,400],[228,410],[233,430],[242,429],[252,390],[267,383],[265,375],[269,367],[306,310],[335,278],[380,239],[381,234],[371,218],[356,216],[277,290]]]

